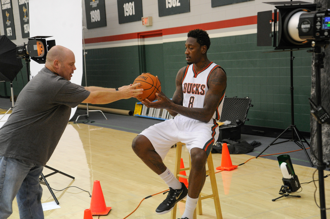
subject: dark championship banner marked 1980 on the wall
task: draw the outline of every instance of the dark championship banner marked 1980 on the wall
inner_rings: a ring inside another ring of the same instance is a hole
[[[87,29],[106,27],[104,0],[85,0]]]

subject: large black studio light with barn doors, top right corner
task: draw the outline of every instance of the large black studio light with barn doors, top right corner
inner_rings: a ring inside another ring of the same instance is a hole
[[[317,11],[316,4],[302,1],[265,3],[276,4],[277,9],[274,15],[272,11],[258,12],[258,46],[292,50],[310,48],[313,40],[326,43],[330,39],[330,9]]]

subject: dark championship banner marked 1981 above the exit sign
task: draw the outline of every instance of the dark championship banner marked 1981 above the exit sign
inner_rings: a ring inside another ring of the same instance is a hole
[[[117,0],[119,24],[141,21],[142,0]]]

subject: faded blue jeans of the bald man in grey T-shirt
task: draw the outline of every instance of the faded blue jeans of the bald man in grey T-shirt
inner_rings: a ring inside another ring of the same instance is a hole
[[[0,156],[0,219],[13,213],[16,196],[20,219],[44,219],[39,177],[43,166]]]

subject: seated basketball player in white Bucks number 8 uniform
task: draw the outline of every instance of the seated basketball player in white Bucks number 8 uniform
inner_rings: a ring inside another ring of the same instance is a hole
[[[210,44],[206,31],[189,31],[185,42],[188,66],[177,74],[172,100],[161,93],[156,94],[158,101],[143,102],[147,107],[167,109],[175,116],[144,130],[132,143],[139,158],[170,187],[167,198],[156,209],[158,214],[171,211],[187,197],[182,218],[192,219],[205,182],[205,164],[218,138],[216,120],[220,119],[227,81],[224,70],[207,58]],[[179,141],[186,145],[191,156],[189,190],[163,163],[171,146]]]

